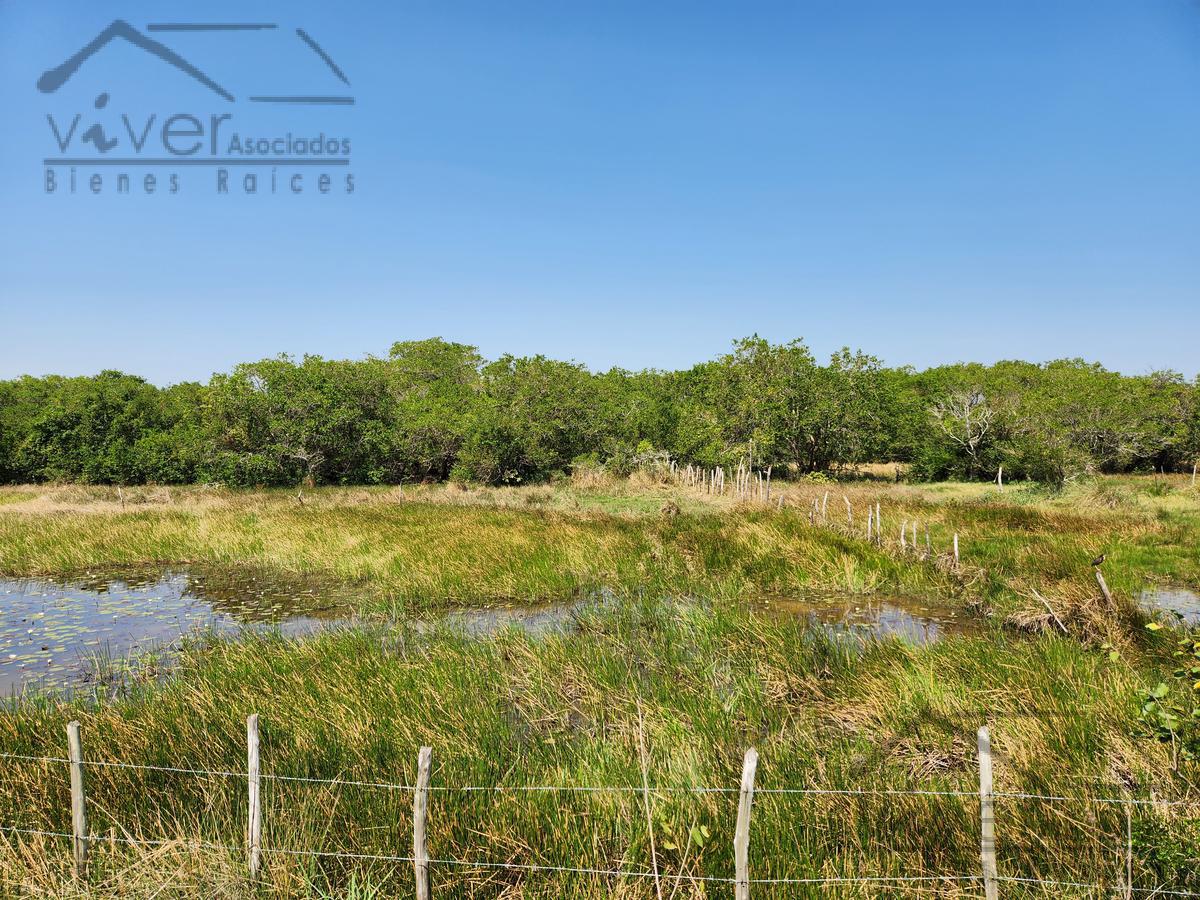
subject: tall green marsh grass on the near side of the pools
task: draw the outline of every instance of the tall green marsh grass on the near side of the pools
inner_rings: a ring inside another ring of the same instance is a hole
[[[194,647],[175,679],[119,703],[18,704],[0,719],[0,744],[59,756],[62,724],[74,716],[89,758],[236,772],[245,766],[244,716],[257,712],[266,772],[398,784],[412,781],[415,749],[430,744],[440,788],[431,806],[434,858],[644,871],[648,832],[636,793],[454,790],[636,786],[642,730],[662,871],[726,877],[736,793],[672,788],[736,787],[749,745],[762,756],[760,788],[970,792],[973,736],[986,722],[997,791],[1190,796],[1193,781],[1172,770],[1169,751],[1132,737],[1145,682],[1139,668],[1159,665],[1147,654],[1130,665],[1066,638],[996,634],[920,649],[851,646],[721,605],[646,600],[583,610],[574,629],[540,638],[378,626],[299,644],[266,636]],[[6,822],[70,830],[62,766],[0,767]],[[150,850],[100,841],[98,895],[106,884],[115,895],[119,880],[121,895],[137,895],[125,872],[142,872],[146,895],[163,884],[161,895],[194,895],[202,883],[222,896],[245,889],[238,851],[184,850],[196,840],[240,845],[242,780],[119,768],[88,776],[97,835],[178,841]],[[403,791],[268,781],[264,806],[269,848],[407,856],[410,846]],[[755,877],[973,874],[977,817],[970,797],[761,793]],[[1122,871],[1123,858],[1111,852],[1122,846],[1120,809],[1008,800],[1000,817],[1007,875],[1111,884]],[[1180,814],[1139,814],[1139,827],[1153,823],[1174,839],[1174,818]],[[685,860],[686,835],[698,826],[712,836]],[[0,841],[0,874],[49,890],[62,883],[68,852]],[[167,860],[175,869],[162,869]],[[1153,859],[1138,865],[1139,883],[1162,883]],[[403,864],[270,852],[263,887],[280,896],[342,895],[352,877],[386,896],[410,889]],[[1171,884],[1200,887],[1190,877]],[[647,880],[563,872],[436,865],[433,878],[449,896],[653,895]],[[762,896],[793,892],[756,888]]]

